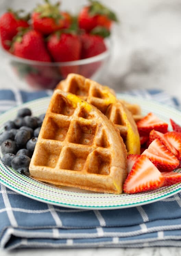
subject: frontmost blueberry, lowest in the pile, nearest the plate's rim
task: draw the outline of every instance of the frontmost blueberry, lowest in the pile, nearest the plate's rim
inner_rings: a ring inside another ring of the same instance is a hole
[[[19,172],[20,174],[24,174],[26,171],[28,171],[30,161],[31,159],[28,156],[16,156],[13,158],[11,166],[15,171]]]

